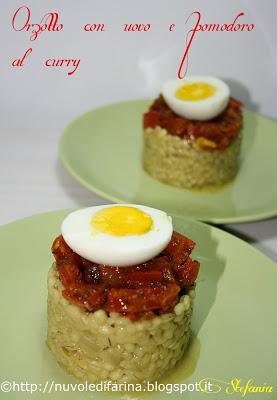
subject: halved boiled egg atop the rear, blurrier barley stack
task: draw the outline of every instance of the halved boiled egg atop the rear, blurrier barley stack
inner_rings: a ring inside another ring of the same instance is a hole
[[[207,121],[226,108],[230,89],[218,78],[195,75],[165,83],[162,95],[168,107],[181,117]]]

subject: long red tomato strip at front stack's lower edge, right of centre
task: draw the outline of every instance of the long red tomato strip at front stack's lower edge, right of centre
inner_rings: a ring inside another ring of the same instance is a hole
[[[170,305],[180,287],[167,286],[141,289],[111,289],[108,294],[107,310],[116,312],[141,312],[156,310]]]

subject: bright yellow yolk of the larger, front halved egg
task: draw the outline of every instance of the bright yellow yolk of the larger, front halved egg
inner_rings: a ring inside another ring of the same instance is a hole
[[[96,212],[91,225],[113,236],[141,235],[150,231],[153,220],[150,215],[135,207],[113,206]]]

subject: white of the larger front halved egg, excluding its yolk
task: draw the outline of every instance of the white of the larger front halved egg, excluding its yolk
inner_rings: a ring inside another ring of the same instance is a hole
[[[113,236],[91,226],[93,215],[107,207],[135,207],[150,215],[153,226],[140,235]],[[165,212],[134,204],[113,204],[74,211],[63,221],[61,232],[68,246],[89,261],[110,266],[131,266],[157,256],[170,242],[173,227]]]

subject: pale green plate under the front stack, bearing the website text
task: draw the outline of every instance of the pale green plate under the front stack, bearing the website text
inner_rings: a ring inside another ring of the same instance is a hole
[[[42,394],[46,382],[75,384],[56,363],[45,339],[47,330],[47,272],[53,261],[50,247],[67,211],[41,214],[0,228],[1,362],[2,381],[32,383],[38,392],[0,392],[2,399],[166,399],[165,393],[114,395],[64,391]],[[187,357],[164,383],[217,382],[226,396],[228,382],[241,385],[277,384],[277,266],[253,247],[217,228],[174,218],[176,230],[197,242],[194,257],[201,262]],[[220,381],[220,382],[219,382]],[[225,382],[225,383],[224,383]],[[39,386],[41,385],[41,386]],[[215,386],[214,386],[215,387]],[[65,387],[66,388],[66,387]],[[24,386],[23,386],[24,389]],[[25,386],[26,389],[26,386]],[[35,389],[35,388],[34,388]],[[276,399],[274,393],[257,399]],[[254,396],[256,398],[256,396]],[[251,393],[246,399],[254,398]],[[174,393],[170,398],[206,399],[205,393]]]

